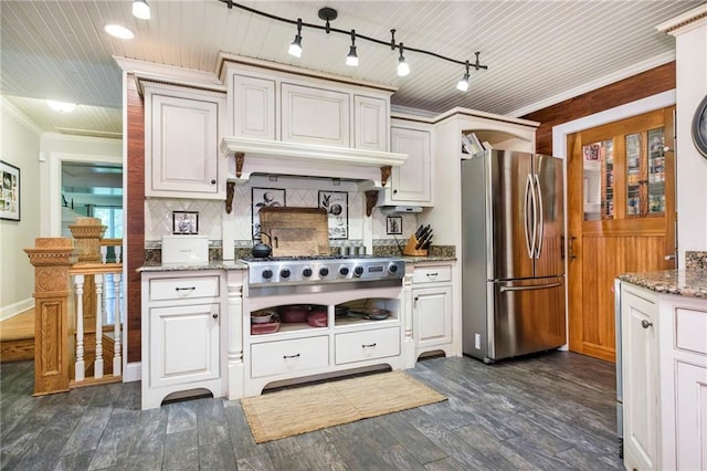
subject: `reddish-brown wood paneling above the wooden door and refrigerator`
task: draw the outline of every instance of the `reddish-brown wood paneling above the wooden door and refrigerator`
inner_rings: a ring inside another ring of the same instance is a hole
[[[520,116],[540,122],[536,151],[552,155],[552,127],[675,88],[675,61]]]

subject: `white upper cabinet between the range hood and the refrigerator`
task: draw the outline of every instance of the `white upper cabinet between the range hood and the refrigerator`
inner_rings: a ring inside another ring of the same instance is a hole
[[[390,148],[407,154],[408,160],[394,167],[383,190],[382,206],[432,206],[432,136],[425,125],[393,119]]]

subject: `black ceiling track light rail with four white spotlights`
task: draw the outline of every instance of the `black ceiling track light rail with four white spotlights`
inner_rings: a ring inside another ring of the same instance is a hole
[[[465,61],[460,61],[456,59],[452,59],[452,57],[447,57],[446,55],[442,55],[442,54],[437,54],[436,52],[432,52],[432,51],[425,51],[423,49],[419,49],[419,48],[410,48],[410,46],[403,46],[403,43],[397,43],[395,42],[395,30],[392,29],[390,30],[390,34],[391,34],[391,39],[390,41],[387,40],[379,40],[377,38],[371,38],[371,36],[367,36],[365,34],[359,34],[356,32],[356,30],[350,30],[350,31],[346,31],[346,30],[340,30],[337,28],[333,28],[331,27],[331,21],[335,20],[337,18],[337,11],[333,8],[329,7],[325,7],[321,8],[318,12],[318,17],[319,19],[324,20],[326,23],[324,25],[321,24],[313,24],[313,23],[305,23],[302,21],[300,18],[298,18],[297,20],[291,20],[288,18],[283,18],[283,17],[278,17],[276,14],[272,14],[272,13],[267,13],[264,11],[260,11],[256,10],[254,8],[251,7],[246,7],[244,4],[241,3],[236,3],[233,0],[219,0],[222,3],[225,3],[226,7],[229,9],[232,9],[233,7],[241,9],[241,10],[245,10],[250,13],[254,13],[261,17],[265,17],[265,18],[270,18],[271,20],[275,20],[275,21],[279,21],[283,23],[287,23],[287,24],[293,24],[297,27],[297,34],[295,35],[295,40],[293,41],[293,43],[289,45],[289,54],[294,55],[296,57],[299,57],[302,55],[302,29],[303,27],[306,28],[312,28],[315,30],[321,30],[325,31],[327,34],[335,32],[335,33],[339,33],[339,34],[346,34],[347,36],[350,35],[351,38],[351,46],[349,49],[349,53],[346,56],[346,63],[347,65],[351,65],[351,66],[357,66],[358,65],[358,54],[356,53],[356,39],[359,40],[366,40],[368,42],[372,42],[374,44],[380,44],[380,45],[384,45],[384,46],[390,46],[391,50],[399,50],[400,51],[400,55],[398,57],[398,75],[399,76],[405,76],[410,73],[410,65],[405,62],[405,59],[403,56],[403,51],[409,51],[409,52],[414,52],[414,53],[419,53],[419,54],[424,54],[424,55],[429,55],[432,57],[436,57],[446,62],[452,62],[454,64],[458,64],[458,65],[463,65],[464,69],[464,75],[462,76],[462,78],[457,82],[456,84],[456,88],[462,91],[462,92],[466,92],[468,90],[468,80],[469,80],[469,70],[471,67],[474,67],[474,70],[478,71],[478,70],[487,70],[488,65],[482,65],[479,60],[478,60],[478,55],[481,54],[479,52],[476,52],[476,61],[474,63],[471,63],[468,60]]]

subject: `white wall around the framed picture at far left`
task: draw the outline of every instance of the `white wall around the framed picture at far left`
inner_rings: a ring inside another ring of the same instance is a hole
[[[34,268],[22,249],[40,237],[40,133],[17,108],[0,97],[0,159],[20,169],[20,221],[0,220],[0,320],[34,305]]]

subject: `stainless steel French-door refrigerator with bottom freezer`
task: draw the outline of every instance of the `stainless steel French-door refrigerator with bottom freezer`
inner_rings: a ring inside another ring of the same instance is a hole
[[[462,160],[464,354],[490,363],[566,343],[562,188],[557,157]]]

